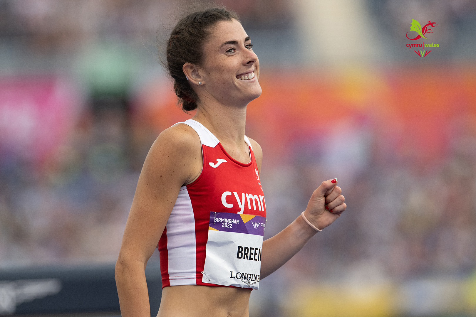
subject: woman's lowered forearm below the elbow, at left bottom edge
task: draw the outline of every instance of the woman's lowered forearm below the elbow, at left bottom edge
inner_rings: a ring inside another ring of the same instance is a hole
[[[122,317],[150,317],[144,264],[119,256],[115,273]]]

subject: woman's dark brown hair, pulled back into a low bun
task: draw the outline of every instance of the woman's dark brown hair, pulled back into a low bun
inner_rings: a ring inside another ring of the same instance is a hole
[[[166,42],[165,57],[162,65],[169,70],[174,80],[174,91],[182,110],[190,111],[197,108],[198,96],[185,77],[183,65],[191,63],[203,65],[203,43],[211,34],[211,29],[220,21],[239,21],[238,15],[231,10],[211,8],[188,14],[180,19],[172,29]]]

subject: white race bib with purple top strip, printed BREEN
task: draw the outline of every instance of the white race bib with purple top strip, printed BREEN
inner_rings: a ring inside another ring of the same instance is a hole
[[[202,282],[258,289],[265,226],[262,216],[210,212]]]

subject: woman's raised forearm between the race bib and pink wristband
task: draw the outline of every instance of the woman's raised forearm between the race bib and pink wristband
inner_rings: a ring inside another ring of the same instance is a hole
[[[263,241],[261,249],[261,279],[267,277],[288,262],[317,231],[301,216],[274,237]]]

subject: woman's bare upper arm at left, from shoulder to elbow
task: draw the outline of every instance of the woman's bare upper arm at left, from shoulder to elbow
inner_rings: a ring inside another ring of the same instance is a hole
[[[187,125],[164,130],[152,144],[139,176],[121,256],[147,262],[164,231],[178,192],[201,171],[198,135]]]

